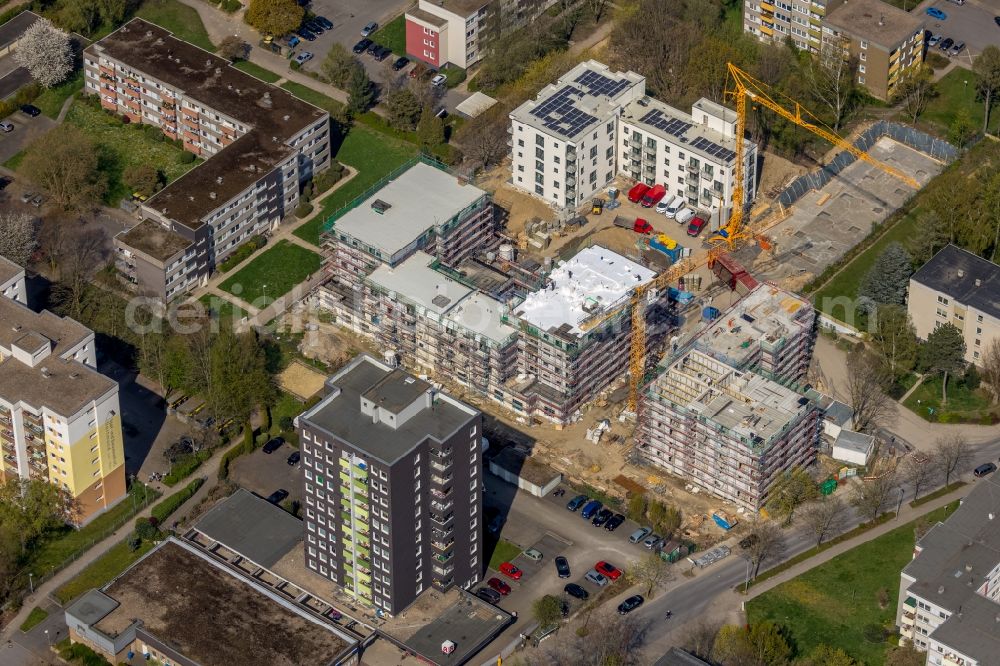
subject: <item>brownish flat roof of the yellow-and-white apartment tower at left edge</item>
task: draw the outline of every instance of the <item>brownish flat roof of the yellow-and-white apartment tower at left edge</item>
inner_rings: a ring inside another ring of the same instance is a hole
[[[0,362],[0,398],[46,407],[67,418],[117,388],[117,382],[83,363],[57,356],[34,368],[13,356]]]

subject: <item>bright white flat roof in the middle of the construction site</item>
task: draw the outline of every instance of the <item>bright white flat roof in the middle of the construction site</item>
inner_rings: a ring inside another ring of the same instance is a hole
[[[528,294],[514,314],[542,331],[581,335],[581,322],[655,276],[631,259],[593,245],[560,262],[549,273],[547,286]]]

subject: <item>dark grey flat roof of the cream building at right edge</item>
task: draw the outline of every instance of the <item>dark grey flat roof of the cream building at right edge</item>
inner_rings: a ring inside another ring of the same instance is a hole
[[[948,245],[910,279],[1000,319],[1000,266],[992,261]]]

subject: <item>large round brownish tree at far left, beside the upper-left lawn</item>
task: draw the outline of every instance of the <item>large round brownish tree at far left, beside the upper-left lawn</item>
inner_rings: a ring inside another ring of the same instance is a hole
[[[94,142],[73,125],[59,125],[33,141],[21,171],[67,211],[94,206],[107,188]]]

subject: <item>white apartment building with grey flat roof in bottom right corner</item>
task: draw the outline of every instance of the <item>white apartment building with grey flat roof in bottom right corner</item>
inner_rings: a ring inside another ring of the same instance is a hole
[[[900,574],[896,625],[929,666],[987,666],[1000,654],[1000,483],[976,481],[920,538]]]

